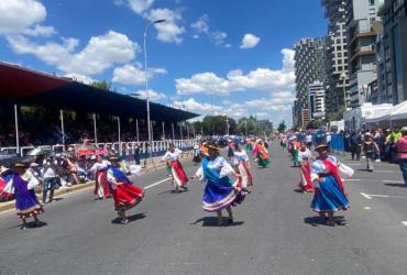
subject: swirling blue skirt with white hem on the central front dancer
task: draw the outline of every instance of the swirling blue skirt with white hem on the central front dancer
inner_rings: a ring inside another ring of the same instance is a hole
[[[215,212],[241,204],[243,199],[242,193],[234,190],[232,186],[220,186],[209,182],[205,187],[202,208],[205,211]]]

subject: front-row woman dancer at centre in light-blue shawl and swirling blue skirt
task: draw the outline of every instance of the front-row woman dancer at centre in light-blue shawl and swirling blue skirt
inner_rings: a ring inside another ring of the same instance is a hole
[[[201,167],[195,176],[207,183],[204,191],[202,208],[208,212],[217,212],[218,226],[220,227],[224,226],[222,210],[226,209],[229,215],[229,224],[231,224],[233,223],[231,207],[241,204],[244,199],[244,194],[241,188],[233,186],[228,175],[239,175],[224,157],[220,156],[220,148],[215,142],[209,142],[207,146],[209,156],[202,158]]]

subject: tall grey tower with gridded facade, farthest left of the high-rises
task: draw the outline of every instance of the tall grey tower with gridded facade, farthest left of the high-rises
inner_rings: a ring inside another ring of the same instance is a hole
[[[302,38],[296,45],[295,75],[296,75],[296,125],[304,127],[302,109],[308,109],[308,86],[315,81],[324,82],[326,78],[326,37]]]

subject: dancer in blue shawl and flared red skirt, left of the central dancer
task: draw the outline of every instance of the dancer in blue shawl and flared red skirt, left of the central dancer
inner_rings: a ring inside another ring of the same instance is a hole
[[[114,208],[118,211],[121,222],[129,222],[125,211],[140,204],[144,197],[144,189],[134,185],[133,182],[125,176],[119,168],[120,160],[118,156],[110,156],[111,165],[107,168],[107,179],[111,194],[113,196]]]

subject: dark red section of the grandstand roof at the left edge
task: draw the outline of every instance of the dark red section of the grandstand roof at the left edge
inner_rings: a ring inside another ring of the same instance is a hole
[[[56,77],[0,62],[0,99],[14,100],[68,85],[68,78]]]

